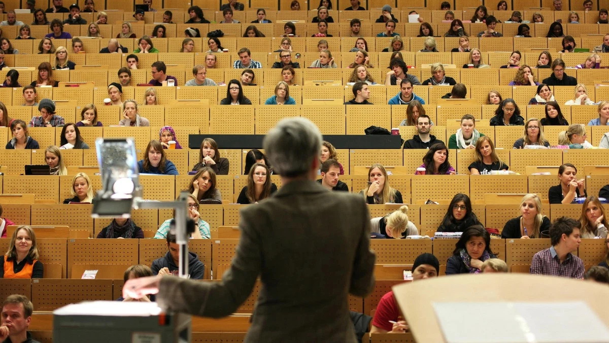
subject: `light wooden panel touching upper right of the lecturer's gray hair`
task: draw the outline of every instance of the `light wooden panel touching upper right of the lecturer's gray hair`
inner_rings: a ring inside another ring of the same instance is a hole
[[[302,105],[300,115],[314,122],[322,135],[345,135],[347,132],[343,105]]]

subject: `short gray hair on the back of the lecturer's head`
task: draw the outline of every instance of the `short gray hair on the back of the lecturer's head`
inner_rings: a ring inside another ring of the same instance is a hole
[[[311,170],[311,163],[319,158],[322,134],[309,119],[285,118],[267,133],[262,146],[280,175],[295,177]]]

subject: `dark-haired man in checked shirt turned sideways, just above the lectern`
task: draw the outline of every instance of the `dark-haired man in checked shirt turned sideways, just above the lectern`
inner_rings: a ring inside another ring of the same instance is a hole
[[[580,242],[579,221],[560,217],[550,227],[552,246],[533,256],[530,274],[542,274],[568,278],[583,278],[582,259],[571,252],[577,251]]]

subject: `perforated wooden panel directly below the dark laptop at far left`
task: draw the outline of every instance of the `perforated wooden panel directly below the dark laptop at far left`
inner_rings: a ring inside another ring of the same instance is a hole
[[[59,177],[57,175],[4,175],[3,183],[2,190],[6,194],[34,194],[37,200],[54,202],[59,199]]]

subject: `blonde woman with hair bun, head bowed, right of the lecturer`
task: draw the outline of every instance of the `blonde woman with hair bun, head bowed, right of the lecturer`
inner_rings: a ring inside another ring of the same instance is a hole
[[[370,219],[373,238],[406,238],[418,235],[418,229],[408,218],[408,207],[406,205],[384,217]],[[375,235],[376,234],[376,235]]]

